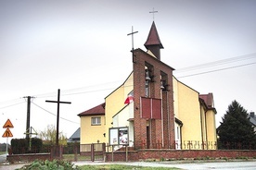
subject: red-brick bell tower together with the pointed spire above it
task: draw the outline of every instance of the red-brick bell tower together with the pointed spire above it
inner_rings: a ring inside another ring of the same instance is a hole
[[[134,148],[175,148],[173,67],[160,61],[163,48],[153,21],[145,47],[134,50]],[[149,55],[151,54],[151,55]]]

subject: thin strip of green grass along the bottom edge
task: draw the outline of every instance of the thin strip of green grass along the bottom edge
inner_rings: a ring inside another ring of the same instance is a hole
[[[133,166],[133,165],[123,165],[123,164],[105,164],[105,165],[83,165],[80,166],[82,170],[90,169],[90,170],[101,170],[101,169],[106,169],[106,170],[155,170],[155,169],[160,169],[160,170],[177,170],[179,168],[170,168],[170,167],[146,167],[146,166]]]

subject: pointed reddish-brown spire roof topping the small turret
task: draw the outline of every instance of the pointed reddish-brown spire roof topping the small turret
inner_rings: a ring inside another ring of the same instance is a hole
[[[160,48],[163,48],[160,42],[160,36],[159,36],[158,30],[154,21],[152,23],[151,29],[149,30],[149,33],[147,36],[147,42],[145,42],[144,45],[146,46],[146,48],[149,45],[160,45]]]

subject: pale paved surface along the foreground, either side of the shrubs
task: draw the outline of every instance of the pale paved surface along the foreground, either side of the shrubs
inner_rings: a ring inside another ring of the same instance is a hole
[[[27,163],[8,164],[4,159],[6,155],[0,155],[3,158],[0,163],[0,170],[15,170],[21,168]],[[168,162],[90,162],[90,161],[78,161],[73,162],[75,165],[99,165],[99,164],[127,164],[136,166],[150,166],[150,167],[176,167],[187,170],[207,170],[207,169],[218,169],[218,170],[256,170],[256,160],[206,160],[206,161],[168,161]]]

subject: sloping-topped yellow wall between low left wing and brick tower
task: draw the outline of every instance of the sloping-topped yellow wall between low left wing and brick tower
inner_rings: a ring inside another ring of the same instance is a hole
[[[109,96],[105,98],[106,143],[109,143],[109,128],[113,127],[113,125],[111,124],[113,122],[113,115],[116,115],[118,112],[122,110],[122,108],[125,106],[124,101],[127,98],[127,95],[129,94],[129,92],[134,90],[133,76],[133,73],[131,73],[128,79],[124,81],[122,86],[120,86],[117,90],[110,93]]]

